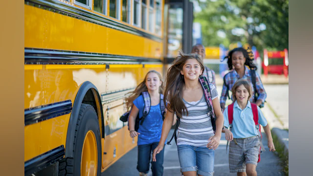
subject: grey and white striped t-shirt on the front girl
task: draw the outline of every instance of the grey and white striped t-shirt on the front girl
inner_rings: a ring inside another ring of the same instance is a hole
[[[211,88],[212,100],[218,97],[214,85],[209,84]],[[211,118],[207,115],[208,106],[204,94],[201,100],[197,102],[186,102],[183,99],[188,110],[188,116],[182,112],[177,135],[177,145],[191,145],[196,147],[206,147],[208,139],[214,135]]]

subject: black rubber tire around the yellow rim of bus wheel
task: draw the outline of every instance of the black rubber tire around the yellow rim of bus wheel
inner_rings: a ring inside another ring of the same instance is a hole
[[[101,135],[96,111],[91,105],[82,103],[73,144],[73,157],[63,158],[59,163],[59,176],[81,176],[81,159],[84,140],[87,132],[92,131],[97,142],[98,164],[97,176],[101,176]]]

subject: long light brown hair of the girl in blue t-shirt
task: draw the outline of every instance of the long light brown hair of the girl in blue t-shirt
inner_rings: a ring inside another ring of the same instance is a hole
[[[126,106],[127,106],[127,109],[129,109],[130,107],[132,107],[134,104],[133,104],[133,101],[138,98],[138,96],[141,94],[141,92],[144,92],[144,91],[148,91],[148,88],[146,86],[146,79],[147,79],[147,76],[149,73],[156,73],[158,78],[160,79],[161,81],[161,85],[158,89],[158,92],[159,93],[163,93],[164,91],[164,82],[162,80],[162,76],[159,72],[157,72],[156,70],[150,70],[146,76],[145,76],[145,79],[135,88],[134,91],[132,92],[129,92],[127,94],[130,94],[130,96],[128,98],[126,98]],[[126,95],[127,95],[126,94]]]

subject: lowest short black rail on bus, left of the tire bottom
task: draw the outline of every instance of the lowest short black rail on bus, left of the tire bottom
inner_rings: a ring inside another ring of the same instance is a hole
[[[52,149],[44,154],[36,156],[24,163],[24,175],[28,176],[35,172],[38,172],[45,167],[53,164],[54,162],[62,159],[65,155],[64,145],[61,145],[55,149]]]

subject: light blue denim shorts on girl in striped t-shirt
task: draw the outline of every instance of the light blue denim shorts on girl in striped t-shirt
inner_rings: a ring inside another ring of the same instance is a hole
[[[202,176],[214,174],[214,150],[206,147],[178,145],[180,172],[196,171]]]

